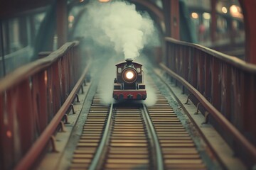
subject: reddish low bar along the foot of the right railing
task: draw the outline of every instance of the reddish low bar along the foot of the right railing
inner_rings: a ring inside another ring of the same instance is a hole
[[[186,88],[193,94],[198,101],[203,105],[204,108],[210,113],[210,115],[213,115],[213,118],[220,123],[220,125],[225,128],[230,134],[233,135],[235,140],[239,143],[240,147],[243,147],[247,154],[250,154],[251,159],[253,162],[256,162],[256,147],[252,145],[242,134],[239,130],[235,128],[232,123],[230,123],[224,115],[222,115],[214,106],[211,105],[209,101],[199,92],[197,91],[191,84],[188,83],[185,79],[178,76],[175,72],[172,72],[168,67],[166,67],[163,63],[160,63],[160,67],[164,69],[171,77],[174,77],[174,79],[178,80],[183,86],[186,86]]]

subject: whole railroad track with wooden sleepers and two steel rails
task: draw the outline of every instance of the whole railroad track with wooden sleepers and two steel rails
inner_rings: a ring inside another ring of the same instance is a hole
[[[96,95],[70,169],[206,169],[173,108],[157,98],[154,106],[104,106]]]

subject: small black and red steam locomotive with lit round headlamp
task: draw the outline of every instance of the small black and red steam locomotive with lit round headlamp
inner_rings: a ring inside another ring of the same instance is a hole
[[[114,79],[113,98],[115,100],[145,100],[146,86],[143,84],[142,64],[132,59],[120,62],[117,67],[117,78]]]

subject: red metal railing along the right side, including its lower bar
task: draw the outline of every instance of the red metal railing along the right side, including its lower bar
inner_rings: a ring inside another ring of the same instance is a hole
[[[164,60],[161,67],[230,133],[233,147],[245,149],[247,160],[256,162],[256,65],[172,38],[166,38]]]

